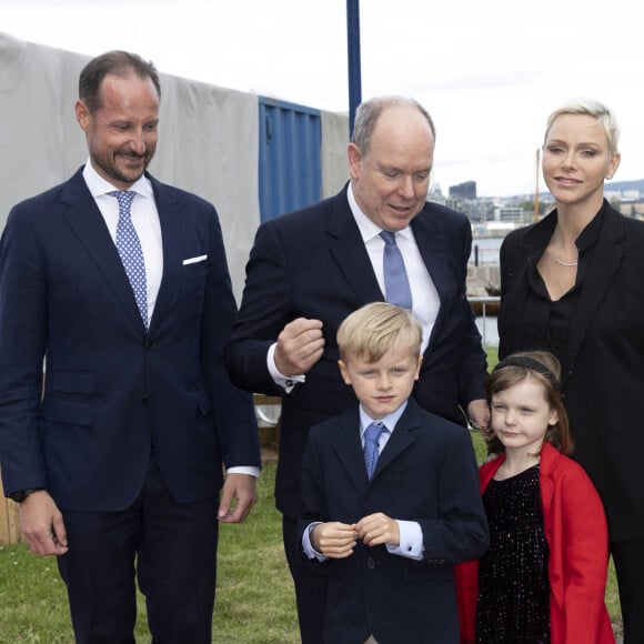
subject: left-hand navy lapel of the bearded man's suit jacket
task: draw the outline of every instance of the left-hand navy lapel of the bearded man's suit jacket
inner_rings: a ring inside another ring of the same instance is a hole
[[[89,256],[97,264],[128,316],[144,334],[145,328],[137,306],[132,286],[128,281],[105,220],[82,178],[82,169],[62,187],[61,202],[68,207],[63,215],[68,225],[87,249]]]

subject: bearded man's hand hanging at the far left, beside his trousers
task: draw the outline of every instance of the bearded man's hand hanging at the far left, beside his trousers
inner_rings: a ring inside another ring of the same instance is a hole
[[[32,492],[19,504],[18,525],[34,554],[60,555],[69,550],[62,513],[46,490]]]

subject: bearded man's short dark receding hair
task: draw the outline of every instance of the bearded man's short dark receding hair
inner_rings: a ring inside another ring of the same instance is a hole
[[[92,58],[80,73],[78,83],[79,99],[83,101],[90,112],[94,112],[101,107],[101,83],[109,73],[121,78],[127,78],[131,73],[134,73],[140,79],[149,78],[154,83],[157,95],[161,100],[159,72],[152,62],[145,62],[137,53],[108,51],[97,58]]]

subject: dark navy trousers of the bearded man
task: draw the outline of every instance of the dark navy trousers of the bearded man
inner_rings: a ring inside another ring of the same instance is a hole
[[[58,557],[77,644],[133,644],[135,582],[155,644],[210,644],[219,500],[174,501],[152,465],[132,506],[62,511],[69,552]]]

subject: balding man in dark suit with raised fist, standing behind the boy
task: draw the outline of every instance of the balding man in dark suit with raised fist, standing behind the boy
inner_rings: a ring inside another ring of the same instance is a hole
[[[282,396],[275,483],[302,640],[321,642],[323,566],[303,566],[296,537],[301,465],[309,429],[356,404],[338,371],[335,333],[346,315],[385,293],[382,231],[395,233],[423,326],[413,396],[424,409],[485,425],[485,353],[465,296],[467,218],[425,201],[435,130],[414,100],[363,103],[349,144],[350,182],[335,197],[263,223],[227,365],[235,384]]]

